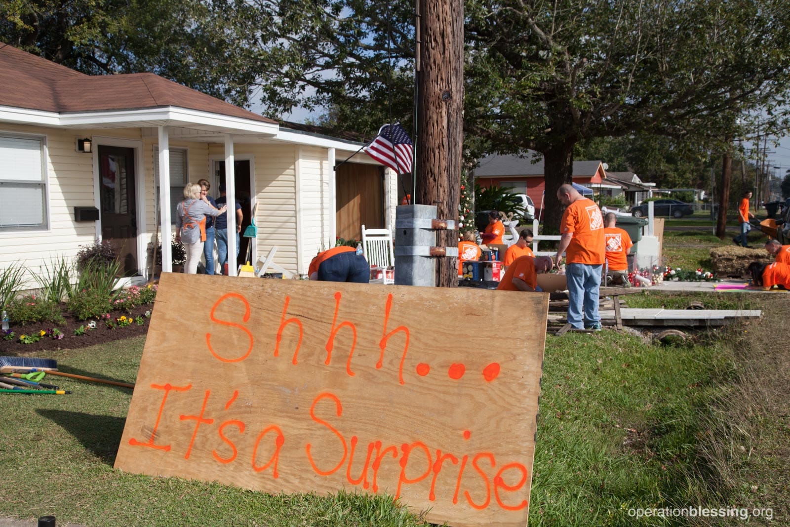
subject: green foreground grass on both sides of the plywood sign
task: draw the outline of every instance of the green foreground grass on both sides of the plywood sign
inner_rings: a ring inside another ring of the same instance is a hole
[[[53,356],[61,367],[134,381],[143,344],[140,337]],[[729,365],[718,348],[662,348],[626,333],[548,337],[530,525],[663,525],[639,523],[626,511],[709,495],[695,452]],[[113,526],[419,523],[383,496],[265,495],[116,471],[130,390],[58,384],[74,393],[2,399],[0,518],[55,514]]]

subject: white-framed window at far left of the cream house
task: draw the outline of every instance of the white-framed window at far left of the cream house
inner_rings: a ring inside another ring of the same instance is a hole
[[[43,137],[0,135],[0,231],[47,228]]]

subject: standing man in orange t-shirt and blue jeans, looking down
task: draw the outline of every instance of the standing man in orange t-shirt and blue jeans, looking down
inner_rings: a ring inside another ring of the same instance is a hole
[[[600,331],[600,273],[606,259],[604,217],[595,201],[579,194],[569,183],[559,187],[557,198],[566,206],[559,223],[557,266],[566,252],[568,323],[575,329]]]

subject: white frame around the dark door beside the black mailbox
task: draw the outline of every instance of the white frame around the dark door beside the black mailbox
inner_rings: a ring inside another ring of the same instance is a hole
[[[145,232],[145,167],[143,166],[143,141],[134,139],[121,139],[119,137],[107,137],[94,135],[93,145],[93,201],[96,209],[101,211],[101,187],[100,187],[100,167],[99,167],[99,146],[119,146],[126,149],[134,149],[134,199],[137,223],[137,272],[141,277],[148,277],[148,247],[146,243],[147,232]],[[96,239],[101,242],[101,215],[96,221]]]

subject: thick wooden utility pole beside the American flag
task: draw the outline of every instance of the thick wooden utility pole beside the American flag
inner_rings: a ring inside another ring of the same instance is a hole
[[[436,205],[440,220],[458,221],[464,108],[464,3],[417,0],[419,6],[419,122],[416,201]],[[438,247],[457,247],[457,231],[439,231]],[[457,286],[453,258],[440,258],[438,287]]]

